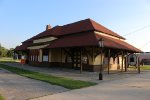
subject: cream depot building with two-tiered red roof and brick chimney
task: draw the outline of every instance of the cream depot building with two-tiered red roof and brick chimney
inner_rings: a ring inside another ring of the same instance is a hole
[[[126,70],[127,55],[142,52],[125,38],[92,19],[46,30],[15,48],[33,66],[65,67],[87,71]]]

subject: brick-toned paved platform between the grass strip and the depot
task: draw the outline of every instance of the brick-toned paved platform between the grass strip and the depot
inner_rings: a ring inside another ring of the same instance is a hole
[[[111,80],[120,80],[123,78],[136,76],[137,71],[130,71],[130,72],[119,72],[119,71],[111,71],[108,75],[107,72],[103,72],[103,81],[98,80],[99,72],[86,72],[83,71],[82,74],[80,74],[79,70],[73,70],[73,69],[65,69],[65,68],[48,68],[48,67],[33,67],[30,65],[21,65],[20,63],[4,63],[6,65],[23,68],[31,71],[36,71],[40,73],[50,74],[54,76],[60,76],[60,77],[68,77],[75,80],[83,80],[83,81],[90,81],[95,83],[103,83],[105,81],[111,81]]]

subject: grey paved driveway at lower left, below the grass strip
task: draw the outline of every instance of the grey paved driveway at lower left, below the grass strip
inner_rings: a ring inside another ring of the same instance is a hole
[[[26,100],[67,90],[0,69],[0,94],[6,100]]]

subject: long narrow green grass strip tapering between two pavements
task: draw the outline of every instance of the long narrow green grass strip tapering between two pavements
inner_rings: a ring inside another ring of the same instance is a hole
[[[68,89],[79,89],[83,87],[96,85],[96,83],[93,83],[93,82],[73,80],[73,79],[64,78],[64,77],[56,77],[56,76],[29,71],[29,70],[25,70],[21,68],[11,67],[11,66],[4,65],[4,64],[0,64],[0,68],[9,70],[21,76],[25,76],[25,77],[36,79],[36,80],[41,80],[41,81],[48,82],[53,85],[59,85]]]

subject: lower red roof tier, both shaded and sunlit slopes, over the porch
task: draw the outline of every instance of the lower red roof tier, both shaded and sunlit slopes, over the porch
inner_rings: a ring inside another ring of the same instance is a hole
[[[99,39],[104,40],[104,46],[115,49],[122,49],[132,52],[142,52],[125,41],[114,39],[108,36],[95,34],[94,32],[85,32],[82,34],[74,34],[64,36],[51,43],[46,48],[63,48],[63,47],[81,47],[81,46],[99,46]]]

